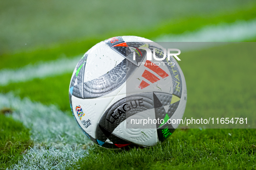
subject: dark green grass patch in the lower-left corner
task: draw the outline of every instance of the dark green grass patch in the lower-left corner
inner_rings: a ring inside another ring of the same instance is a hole
[[[18,163],[29,146],[32,146],[29,129],[0,113],[0,169]]]

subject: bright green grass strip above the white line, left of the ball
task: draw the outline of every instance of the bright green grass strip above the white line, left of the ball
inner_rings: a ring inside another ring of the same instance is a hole
[[[56,60],[62,57],[74,57],[83,54],[92,46],[103,39],[90,39],[87,41],[75,41],[72,43],[54,44],[49,47],[39,47],[33,50],[23,50],[19,53],[2,54],[0,69],[16,69],[28,64],[35,64],[39,62]]]

